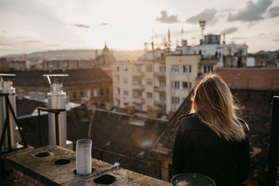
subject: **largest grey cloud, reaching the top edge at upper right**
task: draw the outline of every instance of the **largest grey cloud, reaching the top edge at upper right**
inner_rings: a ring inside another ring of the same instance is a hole
[[[238,10],[235,14],[229,13],[227,20],[229,22],[255,22],[258,20],[262,20],[264,19],[262,15],[266,12],[271,3],[271,0],[258,0],[257,3],[248,1],[245,8]]]

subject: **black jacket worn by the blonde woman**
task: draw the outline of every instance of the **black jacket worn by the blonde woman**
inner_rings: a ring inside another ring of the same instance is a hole
[[[189,114],[179,118],[172,164],[176,173],[202,173],[217,186],[238,185],[248,177],[249,141],[226,141]]]

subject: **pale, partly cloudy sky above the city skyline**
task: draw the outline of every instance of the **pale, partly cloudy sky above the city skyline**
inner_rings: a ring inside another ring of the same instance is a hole
[[[169,29],[172,44],[197,45],[205,34],[248,52],[279,49],[279,0],[0,0],[0,56],[56,49],[160,47]],[[183,34],[181,30],[183,29]]]

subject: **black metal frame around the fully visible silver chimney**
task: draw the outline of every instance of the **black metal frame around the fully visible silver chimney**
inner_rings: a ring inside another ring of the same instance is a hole
[[[58,123],[58,115],[61,111],[66,111],[66,109],[45,109],[43,107],[37,107],[38,109],[38,126],[39,126],[39,135],[40,135],[40,146],[43,144],[43,135],[42,135],[42,127],[40,125],[40,111],[47,111],[54,114],[55,118],[55,132],[56,132],[56,145],[59,146],[59,123]]]

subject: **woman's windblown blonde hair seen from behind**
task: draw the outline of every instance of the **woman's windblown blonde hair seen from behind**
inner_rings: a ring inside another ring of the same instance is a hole
[[[207,75],[197,84],[190,113],[196,113],[202,123],[227,141],[241,141],[246,137],[236,117],[237,109],[229,87],[220,76]]]

